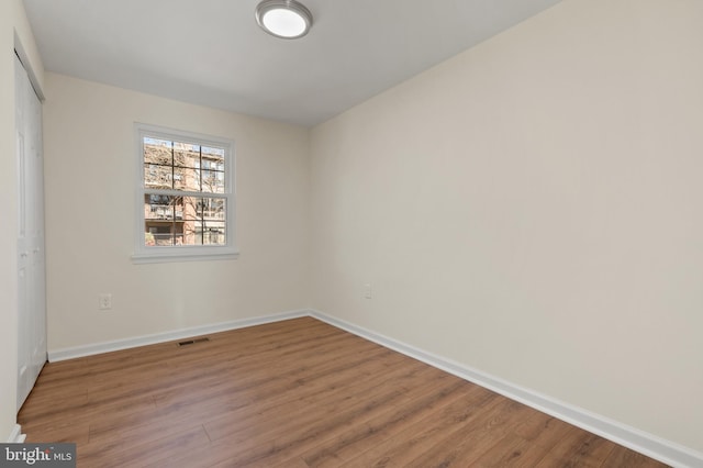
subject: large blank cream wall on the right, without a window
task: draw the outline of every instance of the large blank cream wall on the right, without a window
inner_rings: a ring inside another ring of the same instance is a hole
[[[315,127],[313,307],[703,452],[701,24],[567,0]]]

